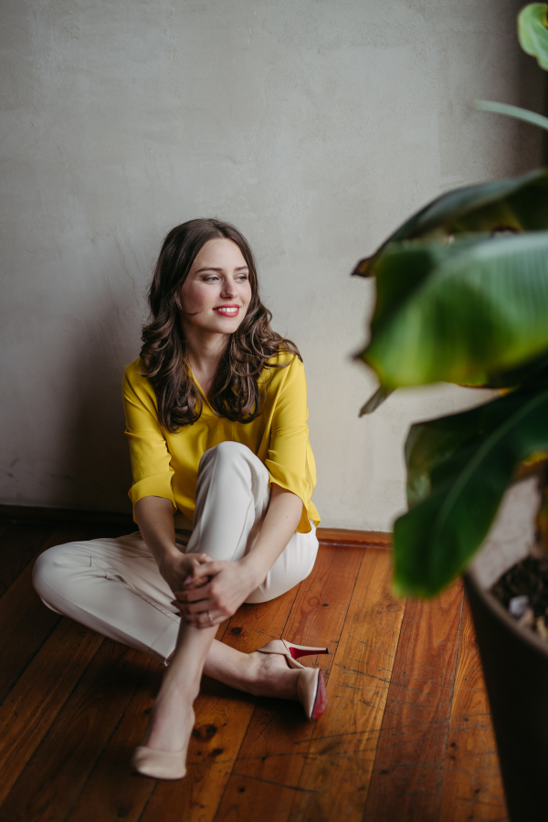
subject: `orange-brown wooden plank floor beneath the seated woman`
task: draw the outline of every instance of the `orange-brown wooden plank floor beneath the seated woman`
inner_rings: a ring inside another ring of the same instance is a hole
[[[133,775],[163,666],[39,601],[40,551],[117,536],[112,524],[0,524],[0,822],[503,822],[478,650],[460,583],[432,603],[397,600],[391,553],[324,543],[311,574],[243,606],[218,638],[328,645],[328,709],[204,680],[188,775]]]

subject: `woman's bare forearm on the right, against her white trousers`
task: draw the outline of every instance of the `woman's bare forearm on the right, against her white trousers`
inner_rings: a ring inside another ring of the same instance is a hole
[[[254,574],[260,585],[297,530],[302,501],[289,490],[272,484],[269,510],[251,551],[240,562]]]

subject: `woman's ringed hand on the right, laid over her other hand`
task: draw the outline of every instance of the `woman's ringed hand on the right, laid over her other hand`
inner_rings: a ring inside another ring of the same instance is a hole
[[[219,625],[237,612],[260,582],[246,558],[235,563],[208,560],[195,565],[192,578],[175,592],[173,604],[188,625]]]

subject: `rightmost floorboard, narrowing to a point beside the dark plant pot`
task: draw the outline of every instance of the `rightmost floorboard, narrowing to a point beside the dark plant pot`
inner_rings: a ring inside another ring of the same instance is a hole
[[[465,597],[439,820],[507,818],[479,649]]]

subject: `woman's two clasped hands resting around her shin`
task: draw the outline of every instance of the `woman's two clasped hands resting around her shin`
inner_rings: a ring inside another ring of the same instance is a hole
[[[161,568],[174,592],[172,605],[188,625],[219,625],[236,613],[262,582],[248,557],[237,562],[217,562],[205,553],[172,558]]]

